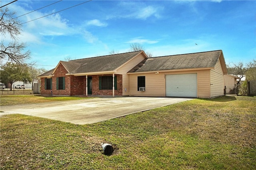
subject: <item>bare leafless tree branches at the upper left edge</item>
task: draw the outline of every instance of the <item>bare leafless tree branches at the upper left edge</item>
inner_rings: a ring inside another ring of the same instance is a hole
[[[0,59],[7,59],[16,63],[24,63],[26,59],[30,58],[30,51],[23,53],[26,47],[25,43],[18,42],[18,35],[20,35],[21,25],[14,16],[15,12],[10,12],[8,8],[0,8],[0,33],[6,37],[10,36],[12,42],[1,41],[0,45]],[[14,18],[14,19],[12,19]]]

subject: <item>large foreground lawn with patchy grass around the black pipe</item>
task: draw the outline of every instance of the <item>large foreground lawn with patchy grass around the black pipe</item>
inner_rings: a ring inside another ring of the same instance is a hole
[[[256,97],[194,99],[74,125],[1,117],[1,169],[256,168]],[[115,150],[105,156],[101,142]]]

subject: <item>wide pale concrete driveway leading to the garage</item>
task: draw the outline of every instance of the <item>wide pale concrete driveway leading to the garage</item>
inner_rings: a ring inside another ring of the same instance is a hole
[[[73,101],[1,106],[0,115],[19,113],[84,125],[188,101],[167,97],[101,97]]]

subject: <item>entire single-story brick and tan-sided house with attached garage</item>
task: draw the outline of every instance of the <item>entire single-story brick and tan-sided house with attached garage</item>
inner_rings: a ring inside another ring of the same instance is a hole
[[[224,95],[226,74],[222,50],[152,58],[135,51],[60,61],[38,77],[42,95],[211,98]]]

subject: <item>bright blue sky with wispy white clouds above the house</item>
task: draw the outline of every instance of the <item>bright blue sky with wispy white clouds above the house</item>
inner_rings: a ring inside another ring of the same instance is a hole
[[[1,0],[1,5],[11,1]],[[21,16],[57,1],[18,0],[8,8]],[[67,57],[127,52],[130,43],[142,44],[154,57],[222,49],[226,64],[256,59],[256,1],[83,2],[62,0],[18,18],[27,22],[20,40],[38,67],[52,69]]]

